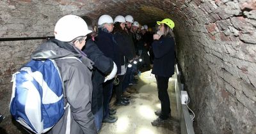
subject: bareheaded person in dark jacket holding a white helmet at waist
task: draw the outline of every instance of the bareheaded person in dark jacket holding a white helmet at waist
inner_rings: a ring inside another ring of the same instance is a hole
[[[93,21],[88,17],[82,17],[87,24],[88,29],[93,32],[88,34],[86,38],[86,45],[83,52],[93,61],[93,75],[92,75],[92,113],[94,115],[97,133],[102,126],[103,118],[103,87],[104,81],[111,80],[116,75],[116,65],[112,59],[104,56],[95,43],[96,31],[93,29]],[[109,74],[109,75],[108,75]],[[113,74],[113,75],[110,75]],[[105,76],[108,77],[105,78]],[[114,113],[114,112],[113,112]],[[111,114],[111,112],[109,112]]]

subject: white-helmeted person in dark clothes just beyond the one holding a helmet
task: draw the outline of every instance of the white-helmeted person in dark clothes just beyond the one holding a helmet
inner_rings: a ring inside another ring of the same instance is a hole
[[[109,15],[101,15],[98,20],[99,33],[97,36],[96,44],[106,57],[112,59],[117,66],[117,74],[120,73],[121,66],[118,59],[118,48],[115,47],[113,41],[113,19]],[[109,115],[109,101],[111,99],[113,90],[113,80],[108,80],[103,84],[103,123],[115,123],[117,118]]]

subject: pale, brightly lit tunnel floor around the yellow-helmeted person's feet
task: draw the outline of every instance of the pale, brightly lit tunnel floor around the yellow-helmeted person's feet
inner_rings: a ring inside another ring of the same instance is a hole
[[[154,111],[161,109],[157,97],[156,78],[150,71],[141,73],[138,84],[134,86],[138,93],[133,93],[130,104],[127,106],[115,107],[113,98],[111,106],[116,108],[116,123],[103,123],[100,134],[136,133],[136,134],[163,134],[180,133],[179,117],[175,98],[175,87],[173,78],[169,79],[168,93],[170,97],[172,117],[167,123],[161,126],[152,126],[151,122],[157,118]]]

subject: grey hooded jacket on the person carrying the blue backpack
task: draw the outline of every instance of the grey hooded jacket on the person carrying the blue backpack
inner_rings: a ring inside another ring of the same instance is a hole
[[[58,40],[43,43],[31,57],[33,59],[66,58],[55,61],[60,70],[69,105],[63,117],[48,133],[96,133],[91,109],[93,62],[76,47]]]

